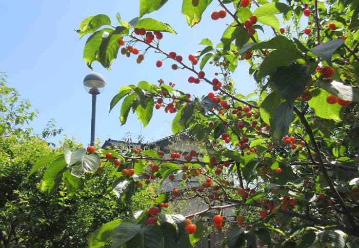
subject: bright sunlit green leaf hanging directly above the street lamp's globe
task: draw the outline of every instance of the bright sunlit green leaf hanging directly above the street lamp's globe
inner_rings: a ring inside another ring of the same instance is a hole
[[[85,47],[84,47],[84,59],[89,68],[92,69],[92,62],[99,61],[99,47],[102,43],[102,36],[105,32],[112,32],[112,28],[104,28],[99,31],[94,32],[87,39]]]

